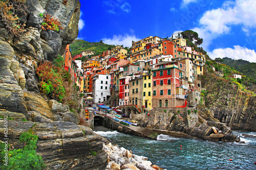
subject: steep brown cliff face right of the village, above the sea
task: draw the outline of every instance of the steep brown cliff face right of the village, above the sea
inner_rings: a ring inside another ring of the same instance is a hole
[[[201,81],[207,89],[205,106],[215,118],[234,130],[256,131],[256,96],[212,76],[201,76]]]

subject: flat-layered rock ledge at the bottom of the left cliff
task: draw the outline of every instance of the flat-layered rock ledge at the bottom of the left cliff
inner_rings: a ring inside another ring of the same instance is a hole
[[[0,120],[4,127],[4,121]],[[9,144],[15,149],[23,147],[18,142],[19,136],[32,129],[38,136],[37,153],[44,159],[46,169],[104,169],[108,155],[102,150],[101,139],[90,128],[82,131],[74,123],[56,121],[54,123],[34,123],[9,120]],[[4,131],[0,129],[0,137]],[[84,133],[83,133],[84,132]],[[87,133],[85,133],[87,132]],[[97,153],[91,155],[91,151]]]

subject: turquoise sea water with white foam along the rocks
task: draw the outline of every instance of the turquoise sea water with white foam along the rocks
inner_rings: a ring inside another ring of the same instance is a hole
[[[96,133],[136,155],[148,157],[153,164],[165,169],[256,169],[256,138],[240,136],[241,141],[245,141],[241,144],[168,135],[159,135],[158,140],[151,140],[117,131]],[[241,135],[245,132],[234,133]],[[246,134],[256,136],[256,133]]]

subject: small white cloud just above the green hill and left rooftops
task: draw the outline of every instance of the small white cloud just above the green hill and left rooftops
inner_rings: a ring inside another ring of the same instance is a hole
[[[102,41],[106,44],[123,45],[123,47],[131,47],[132,41],[139,41],[135,35],[113,35],[113,38],[103,38]]]

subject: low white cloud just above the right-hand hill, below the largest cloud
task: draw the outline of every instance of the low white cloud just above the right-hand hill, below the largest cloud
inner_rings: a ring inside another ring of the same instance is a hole
[[[231,59],[243,59],[249,62],[256,62],[256,53],[246,47],[234,45],[234,48],[218,48],[209,53],[211,59],[228,57]]]

